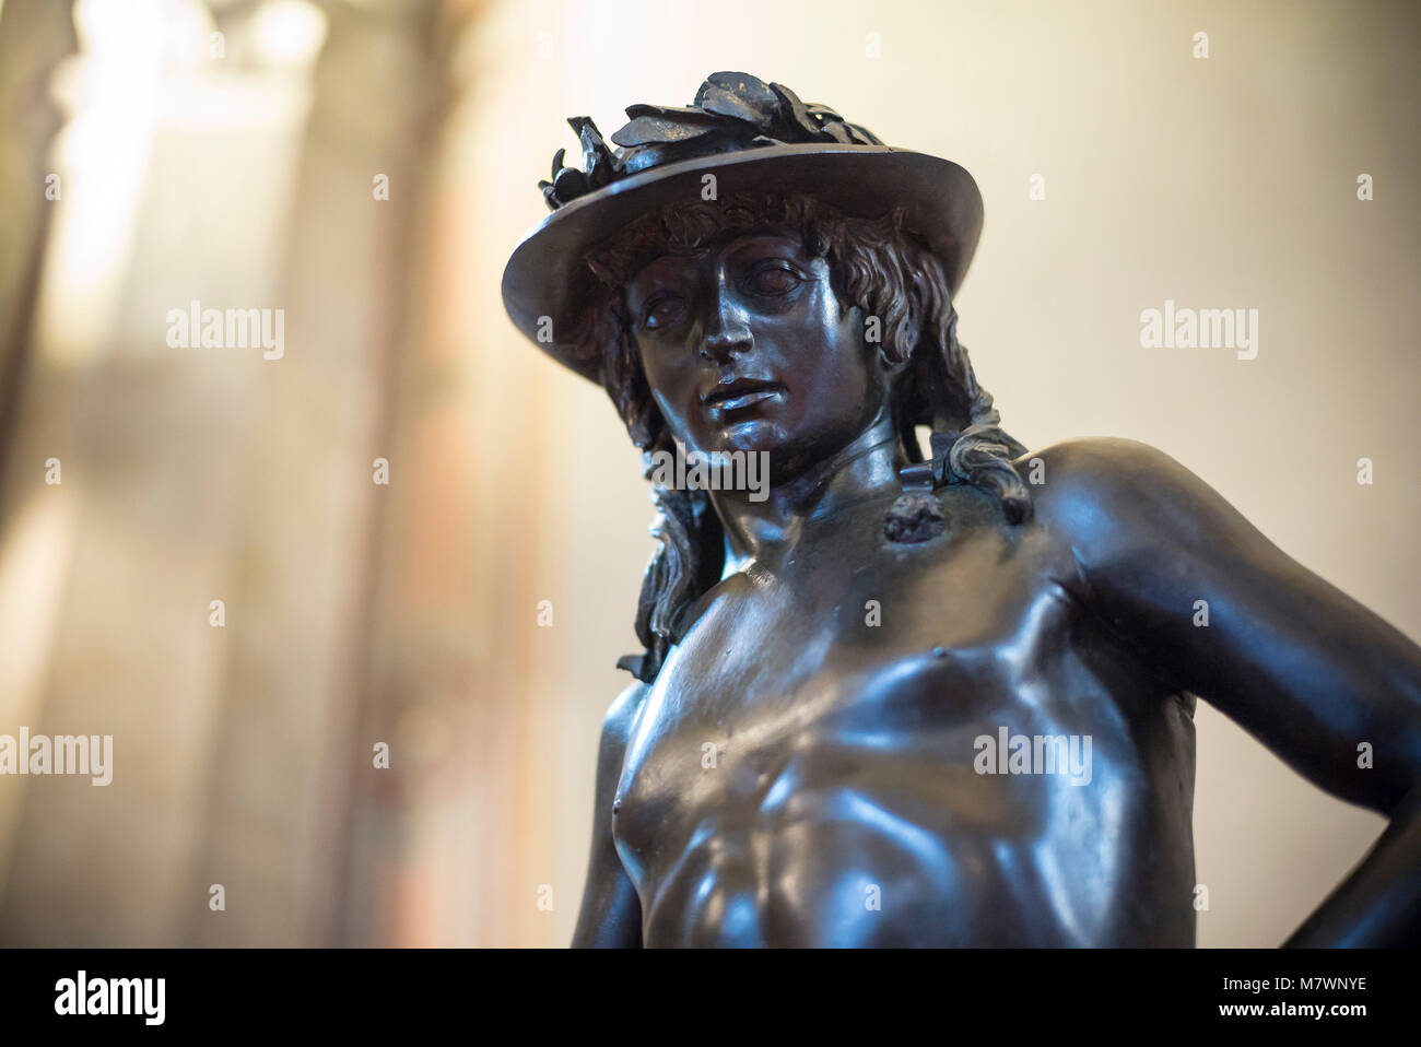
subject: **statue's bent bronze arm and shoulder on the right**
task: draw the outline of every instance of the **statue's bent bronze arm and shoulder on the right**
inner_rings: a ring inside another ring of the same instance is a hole
[[[1391,820],[1286,945],[1421,943],[1421,648],[1162,452],[1081,440],[1043,457],[1040,511],[1115,635],[1309,781]]]

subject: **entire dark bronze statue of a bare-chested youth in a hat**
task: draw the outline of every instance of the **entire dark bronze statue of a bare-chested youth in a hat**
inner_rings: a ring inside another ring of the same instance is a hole
[[[654,490],[574,945],[1192,946],[1195,695],[1391,818],[1287,945],[1421,942],[1421,649],[1164,453],[1000,429],[971,176],[739,72],[628,116],[571,121],[510,315],[770,487]]]

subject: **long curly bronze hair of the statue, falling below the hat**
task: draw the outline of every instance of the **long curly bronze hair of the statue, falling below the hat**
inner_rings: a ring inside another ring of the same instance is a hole
[[[655,257],[692,254],[723,233],[764,227],[796,232],[807,251],[828,261],[840,300],[878,317],[878,351],[888,364],[907,364],[891,402],[905,457],[924,460],[915,428],[931,426],[936,486],[972,484],[1000,501],[1009,523],[1027,520],[1032,496],[1010,460],[1026,449],[1002,430],[992,396],[978,385],[958,342],[942,263],[905,229],[901,210],[850,217],[804,195],[755,192],[666,205],[587,256],[601,293],[583,317],[578,355],[601,361],[603,386],[642,450],[647,477],[655,453],[672,450],[674,438],[652,399],[622,288]],[[647,567],[637,608],[637,638],[645,652],[618,661],[647,683],[679,642],[686,609],[725,570],[725,534],[706,492],[654,483],[652,500],[651,533],[661,546]]]

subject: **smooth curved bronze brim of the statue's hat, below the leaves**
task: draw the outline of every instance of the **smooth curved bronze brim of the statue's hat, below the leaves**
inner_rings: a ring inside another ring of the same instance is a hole
[[[881,145],[772,145],[666,163],[573,200],[519,242],[503,270],[503,304],[514,325],[560,364],[601,382],[600,357],[580,358],[568,341],[578,330],[577,311],[597,287],[587,251],[662,205],[699,203],[706,173],[715,173],[722,199],[770,189],[806,193],[857,217],[902,207],[904,224],[941,259],[952,294],[982,234],[976,182],[959,165],[926,153]],[[540,331],[551,340],[540,340]]]

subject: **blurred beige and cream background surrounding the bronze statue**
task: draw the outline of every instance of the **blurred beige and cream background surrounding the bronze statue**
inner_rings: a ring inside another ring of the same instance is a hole
[[[1367,0],[4,0],[0,733],[114,780],[0,777],[0,943],[568,940],[651,506],[499,278],[564,118],[715,70],[973,172],[1019,439],[1154,443],[1421,638],[1418,45]],[[171,347],[193,300],[284,355]],[[1165,300],[1256,359],[1141,348]],[[1199,943],[1276,945],[1381,818],[1198,742]]]

